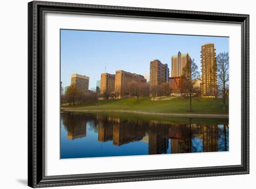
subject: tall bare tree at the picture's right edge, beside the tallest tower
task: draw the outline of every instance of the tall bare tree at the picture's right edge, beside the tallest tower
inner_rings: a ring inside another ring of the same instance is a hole
[[[217,57],[218,95],[222,98],[223,111],[225,111],[227,90],[229,89],[229,52],[220,52]]]

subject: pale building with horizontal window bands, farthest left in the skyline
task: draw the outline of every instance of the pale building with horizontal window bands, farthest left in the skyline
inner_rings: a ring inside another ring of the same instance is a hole
[[[72,74],[71,86],[75,86],[77,90],[87,95],[89,93],[89,77],[79,74]]]

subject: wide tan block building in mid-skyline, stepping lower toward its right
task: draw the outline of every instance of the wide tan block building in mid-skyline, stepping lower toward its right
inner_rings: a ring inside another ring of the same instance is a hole
[[[147,83],[144,76],[136,73],[125,72],[123,70],[115,71],[115,91],[119,92],[120,97],[127,97],[128,86],[132,82]]]

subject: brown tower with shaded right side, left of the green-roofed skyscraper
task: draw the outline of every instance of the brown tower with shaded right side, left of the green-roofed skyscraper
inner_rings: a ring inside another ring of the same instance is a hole
[[[150,62],[150,87],[161,85],[169,80],[169,68],[167,64],[162,64],[158,59]]]

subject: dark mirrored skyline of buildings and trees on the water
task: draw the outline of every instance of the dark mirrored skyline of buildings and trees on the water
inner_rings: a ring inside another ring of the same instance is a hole
[[[138,118],[101,114],[62,113],[67,138],[87,137],[87,125],[98,134],[99,142],[112,141],[114,146],[141,141],[148,143],[148,154],[176,154],[229,150],[228,124],[175,124]],[[170,145],[170,146],[169,146]],[[169,149],[169,150],[168,150]]]

